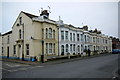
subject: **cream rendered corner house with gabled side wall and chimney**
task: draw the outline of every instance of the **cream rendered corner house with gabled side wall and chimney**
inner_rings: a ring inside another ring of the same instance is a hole
[[[2,34],[2,38],[3,56],[8,58],[39,60],[41,55],[58,55],[58,26],[47,10],[40,16],[21,11],[11,33]]]

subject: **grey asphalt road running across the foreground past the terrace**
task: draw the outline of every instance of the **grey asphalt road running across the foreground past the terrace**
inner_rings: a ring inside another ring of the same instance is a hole
[[[118,54],[52,65],[8,62],[3,65],[3,78],[112,78],[118,68]]]

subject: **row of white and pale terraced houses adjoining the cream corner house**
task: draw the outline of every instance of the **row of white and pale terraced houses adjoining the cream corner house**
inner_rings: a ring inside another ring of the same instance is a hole
[[[88,26],[74,27],[59,20],[59,54],[79,55],[88,49],[96,54],[111,52],[112,40],[97,29],[93,31],[88,30]]]

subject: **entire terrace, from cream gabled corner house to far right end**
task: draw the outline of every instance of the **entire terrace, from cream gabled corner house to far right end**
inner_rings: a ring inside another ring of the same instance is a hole
[[[74,27],[62,20],[49,19],[48,10],[40,16],[21,11],[12,30],[0,35],[1,56],[4,58],[30,60],[41,57],[81,55],[90,49],[92,53],[112,51],[112,40],[99,30],[88,26]],[[42,55],[42,56],[41,56]]]

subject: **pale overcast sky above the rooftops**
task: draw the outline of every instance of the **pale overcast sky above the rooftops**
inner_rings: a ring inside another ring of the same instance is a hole
[[[88,25],[89,29],[101,30],[103,34],[118,37],[117,2],[2,2],[2,25],[0,32],[5,33],[12,26],[21,11],[39,16],[39,10],[49,9],[50,19],[59,20],[75,27]]]

